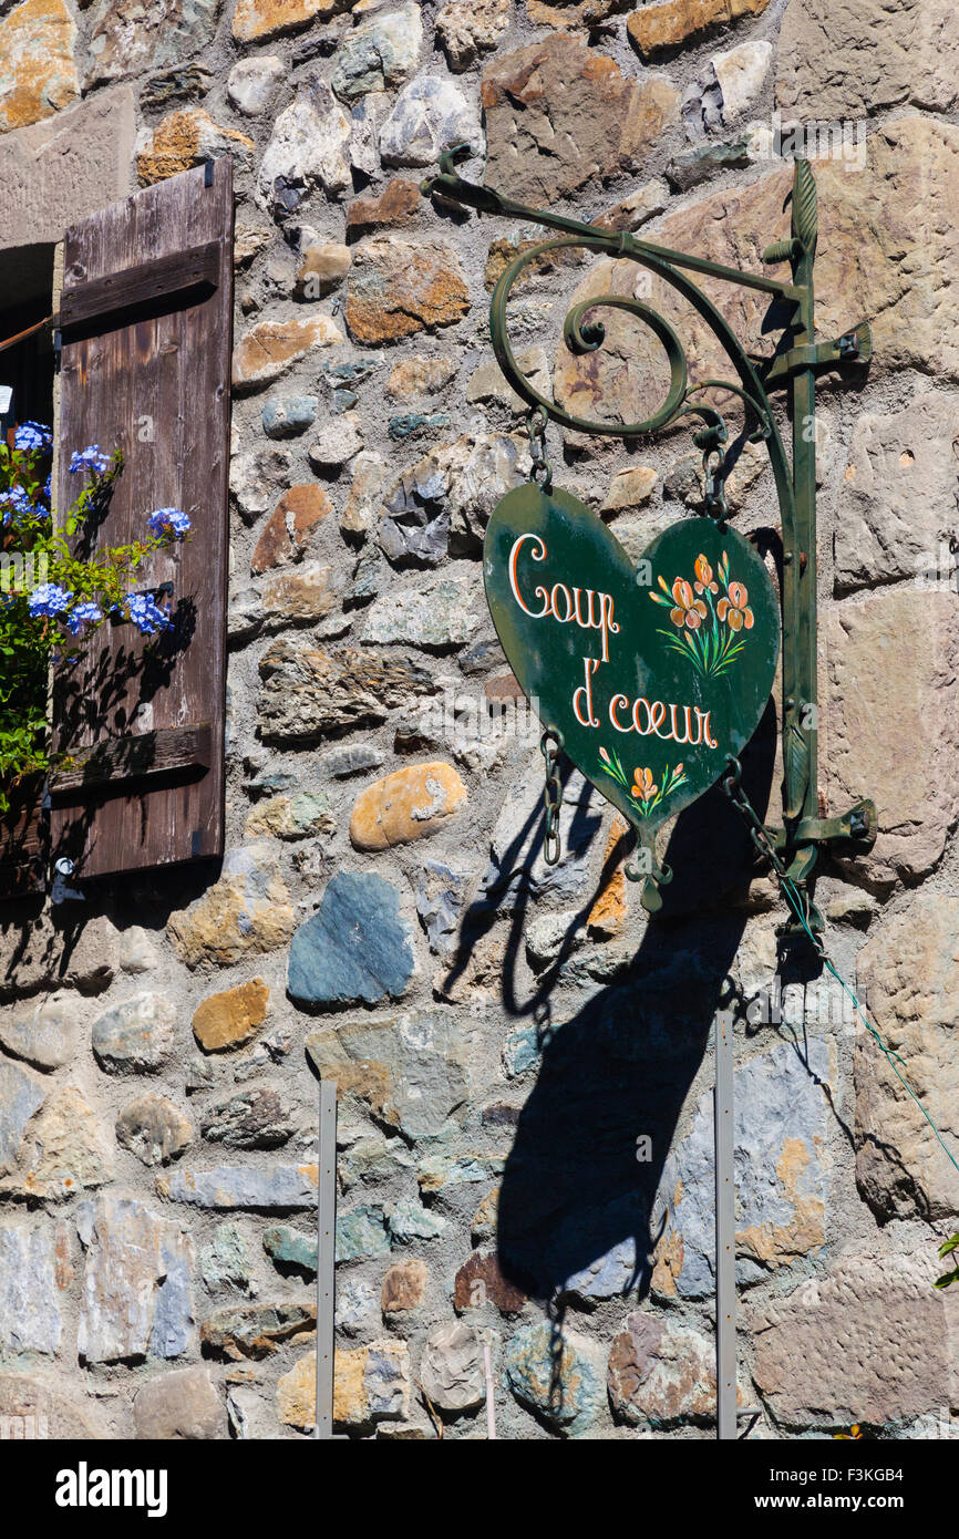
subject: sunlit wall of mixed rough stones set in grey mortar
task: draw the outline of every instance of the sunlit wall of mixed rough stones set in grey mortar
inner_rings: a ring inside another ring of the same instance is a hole
[[[542,857],[536,725],[479,559],[528,469],[488,291],[534,229],[417,191],[466,139],[473,179],[485,159],[513,195],[759,268],[787,219],[776,114],[805,125],[820,331],[876,336],[868,377],[820,392],[820,677],[827,805],[873,796],[882,831],[819,900],[954,1147],[945,0],[0,12],[8,182],[77,134],[109,166],[132,112],[128,188],[219,154],[237,182],[228,854],[216,879],[0,917],[0,1414],[51,1436],[306,1431],[320,1073],[340,1097],[340,1431],[483,1437],[488,1342],[503,1437],[711,1436],[708,1030],[737,1002],[751,1436],[950,1436],[956,1320],[931,1280],[956,1174],[842,994],[777,968],[784,911],[722,796],[673,833],[657,922],[576,774],[563,860]],[[513,305],[523,368],[580,408],[656,391],[639,336],[586,362],[557,343],[571,292],[625,266],[573,254]],[[723,305],[768,346],[754,295]],[[627,451],[550,429],[550,452],[636,556],[702,496],[685,434]],[[762,456],[731,491],[740,528],[776,525]]]

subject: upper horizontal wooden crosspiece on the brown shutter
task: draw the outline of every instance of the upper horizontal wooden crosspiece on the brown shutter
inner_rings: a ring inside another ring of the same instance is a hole
[[[174,251],[169,257],[140,262],[123,272],[108,272],[102,279],[66,289],[60,300],[60,331],[97,323],[129,325],[131,311],[145,309],[160,300],[183,303],[208,299],[220,279],[220,243],[208,240],[191,251]]]

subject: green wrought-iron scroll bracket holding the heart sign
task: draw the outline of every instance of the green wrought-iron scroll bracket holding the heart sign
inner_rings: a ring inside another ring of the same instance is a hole
[[[747,408],[748,437],[765,442],[779,500],[784,571],[782,571],[782,748],[784,748],[784,826],[770,830],[771,842],[780,853],[788,877],[799,891],[807,920],[814,931],[824,928],[822,916],[811,900],[811,879],[824,848],[862,853],[876,837],[876,806],[864,800],[833,819],[820,816],[817,785],[817,625],[816,625],[816,376],[822,369],[847,369],[867,365],[871,357],[871,332],[867,322],[828,343],[814,340],[813,266],[817,240],[817,199],[813,171],[805,160],[794,162],[791,191],[790,239],[767,246],[764,262],[788,262],[791,282],[779,282],[740,268],[730,268],[705,257],[673,251],[627,231],[605,229],[517,203],[493,188],[477,186],[456,174],[456,162],[471,154],[468,145],[457,145],[440,157],[440,172],[420,185],[423,195],[442,205],[474,208],[480,214],[539,223],[562,232],[520,252],[502,272],[490,305],[490,332],[494,356],[508,383],[528,403],[563,428],[586,434],[636,439],[662,431],[682,416],[696,416],[703,426],[694,432],[694,443],[703,449],[703,465],[713,463],[707,488],[707,512],[725,520],[727,506],[722,485],[731,462],[723,445],[728,432],[722,416],[693,397],[708,389],[736,394]],[[708,325],[730,359],[739,383],[707,380],[688,385],[683,346],[670,325],[653,306],[639,299],[597,295],[576,305],[566,315],[563,339],[573,352],[590,352],[602,346],[605,328],[593,312],[603,308],[628,311],[659,339],[670,365],[670,386],[665,400],[651,417],[636,423],[591,422],[576,417],[542,396],[525,377],[513,354],[506,332],[510,291],[528,263],[565,248],[586,248],[596,254],[636,262],[657,274],[685,299]],[[784,306],[788,320],[771,357],[753,359],[736,332],[688,274],[719,279],[767,294]],[[785,451],[782,434],[770,403],[770,391],[788,389],[793,423],[793,459]],[[785,926],[788,934],[804,934],[797,917]]]

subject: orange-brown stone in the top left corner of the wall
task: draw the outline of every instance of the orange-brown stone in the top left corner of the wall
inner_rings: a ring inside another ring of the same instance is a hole
[[[23,0],[0,22],[0,132],[52,117],[80,95],[77,28],[65,0]]]

